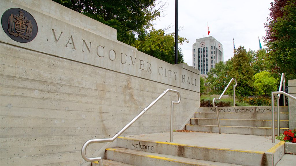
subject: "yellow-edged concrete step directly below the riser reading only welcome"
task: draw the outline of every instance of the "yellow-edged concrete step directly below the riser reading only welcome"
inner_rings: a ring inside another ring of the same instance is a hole
[[[185,157],[172,156],[152,152],[144,152],[126,148],[106,149],[106,158],[120,162],[128,162],[133,165],[234,165],[229,163],[212,162],[205,160],[189,159]]]

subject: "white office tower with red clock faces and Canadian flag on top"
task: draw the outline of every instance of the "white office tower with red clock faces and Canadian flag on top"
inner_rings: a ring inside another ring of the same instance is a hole
[[[200,74],[207,77],[211,68],[215,64],[223,62],[223,46],[212,36],[196,39],[192,45],[192,64],[195,69],[200,70]]]

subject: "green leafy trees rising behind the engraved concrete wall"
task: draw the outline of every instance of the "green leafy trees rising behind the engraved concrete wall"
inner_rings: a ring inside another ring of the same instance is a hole
[[[174,33],[153,29],[152,21],[161,16],[165,4],[156,0],[54,0],[117,30],[117,40],[139,51],[174,64]],[[156,8],[159,6],[159,8]],[[156,9],[155,9],[156,8]],[[147,29],[152,29],[147,32]],[[189,42],[178,37],[178,43]],[[184,63],[178,48],[178,63]]]

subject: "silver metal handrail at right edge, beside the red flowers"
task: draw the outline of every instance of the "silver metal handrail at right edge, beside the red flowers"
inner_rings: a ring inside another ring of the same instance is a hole
[[[278,94],[278,95],[276,95]],[[296,100],[296,97],[290,95],[289,93],[283,92],[283,91],[279,91],[279,92],[271,92],[271,107],[272,107],[272,115],[271,115],[271,121],[272,121],[272,143],[275,143],[275,132],[274,132],[274,97],[277,98],[277,133],[278,136],[280,135],[279,133],[279,96],[280,94],[284,95],[287,97],[291,97],[292,99]]]

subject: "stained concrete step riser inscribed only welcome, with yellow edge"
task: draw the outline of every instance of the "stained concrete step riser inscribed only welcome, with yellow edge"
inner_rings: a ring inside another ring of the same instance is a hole
[[[145,135],[143,136],[145,137]],[[219,135],[219,137],[221,136],[222,135]],[[203,138],[206,139],[206,137],[203,137]],[[184,139],[186,139],[186,137]],[[187,138],[187,139],[192,139],[192,138]],[[272,163],[272,160],[273,160],[272,155],[266,154],[264,151],[239,150],[239,149],[213,147],[215,146],[215,143],[211,144],[212,145],[211,147],[204,147],[204,146],[193,146],[193,145],[187,145],[187,144],[171,143],[171,142],[140,140],[140,139],[136,139],[136,137],[135,138],[118,137],[117,141],[118,141],[117,146],[120,148],[137,150],[137,151],[139,150],[141,152],[151,152],[151,153],[157,153],[157,154],[179,156],[179,157],[185,157],[185,158],[197,159],[197,160],[222,162],[222,163],[228,163],[228,165],[229,164],[261,165],[263,158],[265,160],[264,162],[267,163],[267,165],[269,165]],[[114,158],[109,158],[109,157],[107,158],[110,160],[115,160]],[[116,161],[128,162],[129,164],[133,164],[133,165],[140,165],[139,163],[133,163],[133,162],[127,161],[133,157],[126,157],[126,158],[127,159],[125,160],[116,159]],[[171,157],[167,157],[167,158],[171,158]],[[250,163],[250,160],[252,160],[253,162]],[[146,163],[146,165],[154,165],[154,164],[155,163]]]

